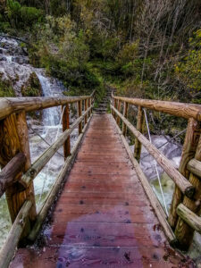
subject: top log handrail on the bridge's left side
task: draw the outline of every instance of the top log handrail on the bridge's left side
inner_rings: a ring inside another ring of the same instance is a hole
[[[0,97],[0,120],[21,110],[31,112],[59,105],[72,104],[91,98],[94,95],[95,91],[90,96]]]

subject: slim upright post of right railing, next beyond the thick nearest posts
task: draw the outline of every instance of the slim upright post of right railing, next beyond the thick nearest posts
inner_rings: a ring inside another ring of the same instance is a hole
[[[143,132],[143,121],[144,121],[144,113],[141,106],[138,106],[138,117],[137,117],[137,130],[139,132]],[[135,138],[135,149],[134,149],[134,158],[139,162],[141,155],[142,145],[138,141],[138,138]]]

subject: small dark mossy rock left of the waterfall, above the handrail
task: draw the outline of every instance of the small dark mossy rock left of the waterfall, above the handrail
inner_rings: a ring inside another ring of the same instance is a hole
[[[22,96],[42,96],[42,88],[38,76],[32,72],[26,85],[21,87]]]

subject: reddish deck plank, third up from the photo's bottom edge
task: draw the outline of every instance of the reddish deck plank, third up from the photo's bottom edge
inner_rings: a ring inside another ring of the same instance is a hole
[[[66,205],[55,208],[57,222],[157,223],[150,206]]]

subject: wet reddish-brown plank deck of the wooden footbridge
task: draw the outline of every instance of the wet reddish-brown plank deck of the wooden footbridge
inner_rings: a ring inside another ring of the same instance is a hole
[[[111,115],[94,115],[39,250],[11,267],[188,267],[173,251]]]

